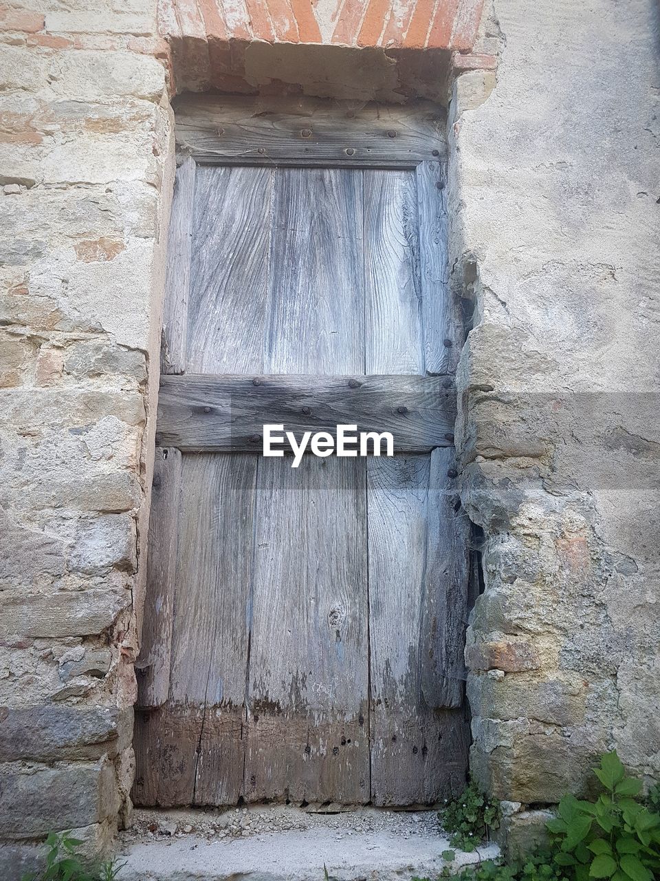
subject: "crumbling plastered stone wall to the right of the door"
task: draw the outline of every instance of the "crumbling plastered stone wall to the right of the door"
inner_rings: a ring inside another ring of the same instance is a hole
[[[660,55],[652,0],[495,16],[496,77],[451,98],[457,438],[485,533],[473,774],[524,807],[613,747],[660,776]]]

